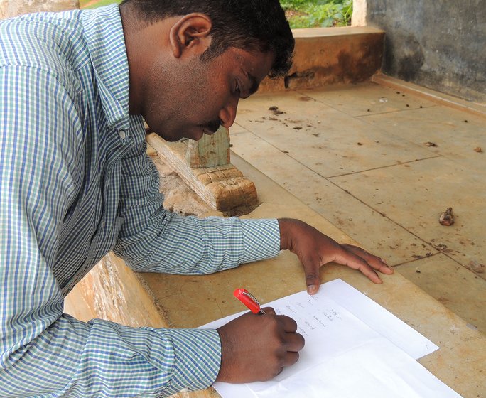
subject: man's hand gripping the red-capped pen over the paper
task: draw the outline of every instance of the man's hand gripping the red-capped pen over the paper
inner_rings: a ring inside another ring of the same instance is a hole
[[[273,308],[264,311],[245,313],[217,329],[222,348],[218,382],[270,380],[297,362],[304,338],[296,333],[296,321],[276,315]]]

